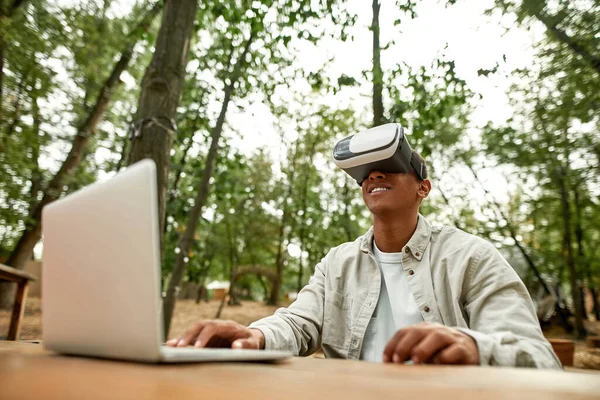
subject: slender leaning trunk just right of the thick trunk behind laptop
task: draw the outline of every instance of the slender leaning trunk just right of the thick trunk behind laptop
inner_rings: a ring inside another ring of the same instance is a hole
[[[206,199],[208,198],[208,192],[210,189],[210,178],[213,174],[215,164],[217,161],[219,139],[221,138],[221,134],[223,133],[223,125],[225,124],[227,108],[229,107],[229,103],[233,95],[234,85],[238,81],[245,67],[246,56],[248,54],[248,51],[250,50],[250,45],[254,41],[254,34],[255,33],[252,32],[250,34],[250,37],[246,41],[244,50],[242,51],[242,54],[238,58],[233,68],[230,81],[225,86],[223,104],[221,105],[221,111],[219,113],[219,117],[217,118],[217,123],[211,132],[210,148],[206,156],[206,164],[204,166],[202,179],[200,180],[200,184],[198,186],[198,192],[196,194],[194,207],[192,207],[192,209],[190,210],[185,232],[183,233],[177,244],[177,247],[179,247],[180,252],[175,260],[175,265],[173,266],[173,275],[171,277],[171,280],[169,281],[167,296],[165,297],[163,306],[165,335],[168,335],[169,329],[171,327],[171,318],[173,316],[173,310],[175,308],[176,289],[181,284],[181,280],[183,279],[183,276],[185,274],[185,259],[188,256],[189,248],[192,244],[192,241],[194,240],[194,234],[196,232],[196,227],[198,226],[198,219],[202,214],[202,208],[206,204]]]

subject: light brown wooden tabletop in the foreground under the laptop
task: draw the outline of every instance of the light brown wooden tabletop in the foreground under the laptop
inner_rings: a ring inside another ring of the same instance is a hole
[[[0,341],[0,399],[598,399],[596,374],[293,358],[144,365]]]

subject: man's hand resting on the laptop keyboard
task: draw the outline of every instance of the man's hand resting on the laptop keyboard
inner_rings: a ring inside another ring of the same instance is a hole
[[[235,321],[202,320],[166,344],[171,347],[264,349],[265,337],[260,330],[249,329]]]

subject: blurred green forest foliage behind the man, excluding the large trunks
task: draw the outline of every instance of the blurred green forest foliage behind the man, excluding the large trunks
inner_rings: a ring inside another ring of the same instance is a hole
[[[370,12],[370,2],[363,3],[363,10]],[[533,289],[536,283],[515,241],[544,278],[565,294],[574,290],[571,276],[578,285],[600,285],[600,250],[595,245],[600,240],[597,2],[494,2],[489,14],[513,16],[511,27],[541,29],[543,38],[534,49],[534,63],[510,77],[515,82],[510,89],[512,118],[482,129],[472,121],[480,97],[458,72],[461,60],[442,53],[425,66],[385,63],[398,49],[397,42],[409,40],[397,29],[418,19],[423,3],[394,2],[393,17],[381,19],[396,30],[380,49],[384,68],[377,77],[370,69],[360,77],[332,73],[329,62],[302,67],[301,49],[306,46],[318,46],[321,40],[347,42],[352,32],[372,33],[354,27],[357,15],[348,11],[346,1],[199,3],[171,151],[164,284],[181,251],[178,240],[194,206],[224,89],[232,81],[210,195],[186,254],[185,280],[232,280],[240,266],[277,271],[280,263],[282,293],[296,291],[331,247],[368,229],[360,190],[333,166],[330,149],[336,139],[370,125],[371,110],[346,100],[353,91],[364,95],[363,89],[377,81],[383,120],[400,122],[413,148],[428,161],[434,192],[422,213],[492,240]],[[13,248],[76,127],[134,35],[131,27],[153,2],[139,0],[124,12],[116,0],[61,4],[30,0],[0,24],[0,257]],[[140,34],[131,66],[121,76],[124,84],[113,93],[65,193],[126,164],[128,127],[157,25]],[[234,65],[249,40],[243,68],[234,77]],[[495,77],[505,62],[479,68],[478,74],[481,79]],[[279,140],[246,152],[239,143],[254,127],[242,126],[238,117],[257,105],[266,110]],[[490,170],[506,176],[503,199],[493,198],[489,191],[494,182],[481,178]],[[573,272],[566,256],[569,248]],[[271,293],[268,280],[256,274],[240,276],[236,287],[249,298],[267,299]]]

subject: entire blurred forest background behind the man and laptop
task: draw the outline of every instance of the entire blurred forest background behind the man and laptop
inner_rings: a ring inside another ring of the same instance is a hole
[[[421,212],[494,243],[549,336],[598,335],[597,0],[0,4],[0,262],[39,277],[41,209],[153,158],[170,336],[251,322],[370,226],[335,141],[398,122]]]

